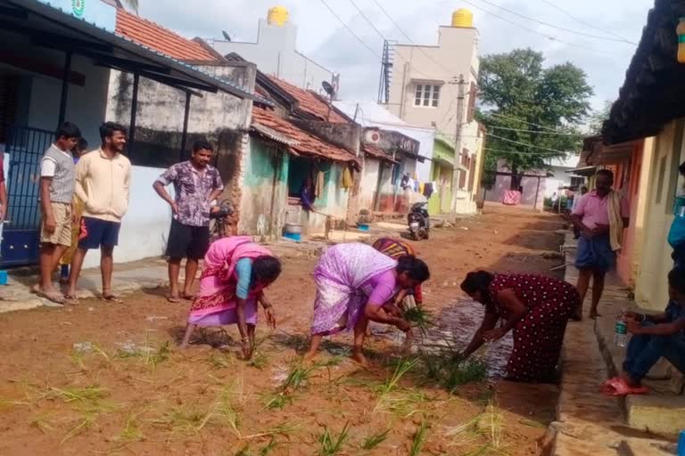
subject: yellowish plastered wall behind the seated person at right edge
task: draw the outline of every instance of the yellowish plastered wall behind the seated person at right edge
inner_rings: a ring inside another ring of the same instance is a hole
[[[673,223],[673,200],[682,179],[678,166],[685,160],[681,118],[665,126],[656,136],[655,150],[648,172],[643,248],[640,257],[635,299],[641,306],[663,311],[668,302],[667,275],[673,268],[668,232]]]

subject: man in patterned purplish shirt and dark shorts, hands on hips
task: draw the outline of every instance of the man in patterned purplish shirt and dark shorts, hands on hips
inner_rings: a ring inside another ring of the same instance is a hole
[[[190,160],[170,167],[153,183],[154,190],[169,203],[173,212],[167,242],[170,303],[177,303],[181,297],[193,298],[198,262],[210,248],[210,202],[224,190],[219,170],[210,166],[212,153],[209,142],[195,142]],[[169,183],[174,184],[176,199],[164,188]],[[186,283],[179,295],[178,273],[183,258],[186,258]]]

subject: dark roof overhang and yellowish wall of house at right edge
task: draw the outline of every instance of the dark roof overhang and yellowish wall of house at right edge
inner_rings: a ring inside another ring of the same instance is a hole
[[[633,241],[637,248],[632,252],[628,278],[635,277],[636,301],[655,311],[663,311],[668,302],[666,277],[673,268],[668,232],[675,196],[685,184],[678,172],[685,161],[685,92],[681,84],[685,65],[676,59],[675,33],[683,16],[685,5],[656,1],[620,96],[602,129],[608,146],[642,143],[632,151],[631,169],[626,173],[629,182],[638,182],[631,183],[638,186]]]

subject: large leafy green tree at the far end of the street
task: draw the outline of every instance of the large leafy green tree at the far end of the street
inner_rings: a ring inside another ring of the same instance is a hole
[[[487,55],[481,62],[479,120],[488,127],[485,167],[495,171],[500,159],[514,174],[549,168],[549,159],[578,151],[580,122],[590,110],[592,88],[585,72],[566,62],[544,68],[542,53],[516,49]]]

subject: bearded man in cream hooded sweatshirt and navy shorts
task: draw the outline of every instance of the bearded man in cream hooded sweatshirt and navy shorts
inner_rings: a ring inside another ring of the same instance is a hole
[[[76,299],[76,283],[87,250],[100,248],[103,299],[121,302],[111,292],[114,247],[119,243],[121,218],[128,210],[131,162],[122,154],[126,128],[113,122],[100,126],[102,147],[87,153],[76,166],[76,195],[85,209],[81,218],[78,249],[74,252],[66,298]]]

